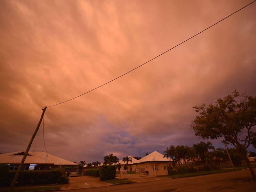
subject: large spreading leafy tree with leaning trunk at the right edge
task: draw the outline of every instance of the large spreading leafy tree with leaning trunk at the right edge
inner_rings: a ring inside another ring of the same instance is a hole
[[[256,179],[246,149],[252,139],[252,127],[256,125],[256,97],[238,91],[218,99],[215,104],[196,105],[198,115],[192,122],[195,135],[203,139],[224,138],[225,142],[237,148]]]

